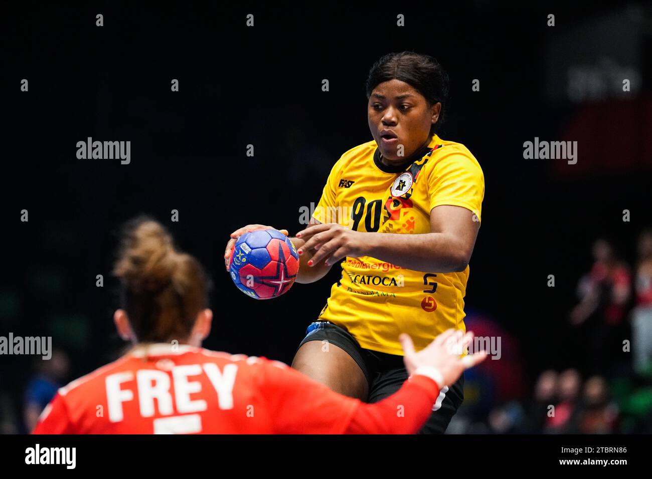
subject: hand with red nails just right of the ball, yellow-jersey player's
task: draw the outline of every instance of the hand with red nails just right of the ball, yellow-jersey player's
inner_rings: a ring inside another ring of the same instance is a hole
[[[299,255],[306,251],[314,250],[308,266],[318,265],[324,261],[326,266],[331,266],[340,259],[350,256],[359,257],[364,255],[364,235],[353,231],[337,223],[325,223],[312,225],[297,233],[297,238],[305,241],[303,246],[297,250]]]

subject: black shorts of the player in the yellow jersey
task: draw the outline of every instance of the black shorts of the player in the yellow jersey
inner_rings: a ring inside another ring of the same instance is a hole
[[[367,402],[376,403],[398,391],[408,379],[403,356],[388,355],[371,349],[363,349],[349,332],[329,321],[316,321],[306,330],[299,347],[308,341],[329,341],[346,351],[360,369],[369,385]],[[299,348],[297,348],[297,351]],[[441,388],[439,397],[432,407],[430,418],[419,431],[420,434],[443,434],[464,401],[464,373],[452,386]]]

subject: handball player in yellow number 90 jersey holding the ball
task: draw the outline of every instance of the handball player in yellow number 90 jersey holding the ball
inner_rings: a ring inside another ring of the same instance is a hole
[[[297,282],[342,278],[310,324],[292,366],[341,394],[376,402],[408,377],[399,336],[417,351],[464,327],[469,260],[480,227],[482,169],[462,144],[439,138],[448,76],[427,55],[385,55],[366,83],[373,141],[345,152],[310,225],[292,242]],[[233,242],[248,225],[231,235]],[[441,388],[422,433],[443,433],[464,399],[464,375]]]

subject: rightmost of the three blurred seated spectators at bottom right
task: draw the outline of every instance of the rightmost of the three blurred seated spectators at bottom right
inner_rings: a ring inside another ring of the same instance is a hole
[[[578,431],[582,434],[614,433],[618,408],[609,400],[606,382],[601,376],[590,377],[584,385],[584,403],[578,415]]]

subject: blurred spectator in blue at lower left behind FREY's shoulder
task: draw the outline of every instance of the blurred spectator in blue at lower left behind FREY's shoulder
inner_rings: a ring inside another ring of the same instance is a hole
[[[37,375],[29,381],[25,390],[23,414],[27,431],[34,429],[41,411],[63,385],[68,370],[68,356],[63,351],[52,351],[52,358],[39,360]]]

